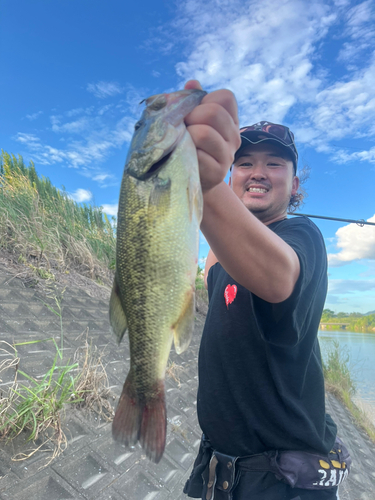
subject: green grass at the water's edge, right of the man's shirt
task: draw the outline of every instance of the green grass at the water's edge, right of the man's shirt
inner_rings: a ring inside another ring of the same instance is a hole
[[[339,342],[336,340],[332,341],[331,348],[326,353],[323,371],[327,391],[348,408],[356,424],[375,443],[375,426],[366,413],[353,401],[356,394],[356,384],[351,374],[349,354],[345,349],[340,348]]]

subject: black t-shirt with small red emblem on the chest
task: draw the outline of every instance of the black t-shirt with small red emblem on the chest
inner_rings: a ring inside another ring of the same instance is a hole
[[[268,226],[298,255],[292,295],[271,304],[219,263],[208,274],[209,308],[199,351],[197,411],[214,449],[328,453],[336,425],[325,413],[317,333],[327,294],[327,254],[305,217]]]

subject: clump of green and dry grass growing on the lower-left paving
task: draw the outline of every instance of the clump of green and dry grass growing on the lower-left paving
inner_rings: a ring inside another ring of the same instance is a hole
[[[62,422],[68,406],[87,408],[108,421],[112,420],[114,410],[102,360],[103,352],[92,347],[87,333],[73,363],[58,364],[62,352],[52,338],[13,346],[1,342],[0,353],[4,359],[0,364],[0,378],[10,371],[13,381],[0,395],[0,438],[9,442],[25,433],[27,441],[34,443],[33,448],[14,456],[13,460],[26,460],[47,443],[52,447],[44,467],[59,456],[67,446]],[[54,343],[56,355],[51,368],[38,380],[20,369],[22,361],[17,347],[47,341]],[[19,383],[19,376],[26,382]],[[36,445],[38,440],[41,444]]]

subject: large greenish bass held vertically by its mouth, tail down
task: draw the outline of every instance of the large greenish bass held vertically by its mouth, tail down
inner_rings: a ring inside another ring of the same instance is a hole
[[[120,189],[109,318],[119,343],[128,332],[130,369],[112,435],[126,446],[139,441],[155,463],[166,443],[164,380],[172,342],[182,353],[194,328],[203,197],[184,118],[205,95],[189,89],[145,100]]]

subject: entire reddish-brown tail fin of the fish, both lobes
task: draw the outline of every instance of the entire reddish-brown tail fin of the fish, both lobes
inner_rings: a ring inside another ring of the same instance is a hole
[[[125,446],[135,445],[139,440],[147,457],[158,463],[167,434],[164,383],[157,382],[151,393],[152,398],[139,402],[129,373],[113,419],[112,436]]]

